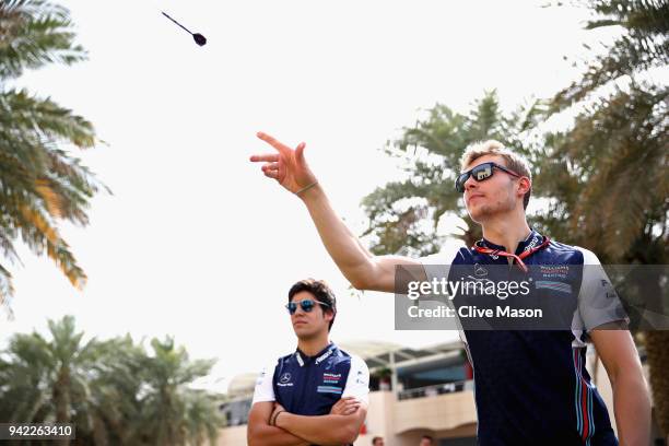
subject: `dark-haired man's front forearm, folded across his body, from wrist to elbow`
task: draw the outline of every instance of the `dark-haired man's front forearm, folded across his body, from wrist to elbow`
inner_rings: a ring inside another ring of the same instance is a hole
[[[277,416],[277,426],[319,445],[349,444],[357,437],[356,425],[344,415],[304,416],[282,412]]]

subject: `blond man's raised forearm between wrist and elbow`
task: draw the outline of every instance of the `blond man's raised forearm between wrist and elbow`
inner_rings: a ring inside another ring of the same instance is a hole
[[[328,254],[343,275],[359,290],[365,290],[373,277],[374,256],[359,243],[332,209],[325,191],[317,185],[301,195]]]

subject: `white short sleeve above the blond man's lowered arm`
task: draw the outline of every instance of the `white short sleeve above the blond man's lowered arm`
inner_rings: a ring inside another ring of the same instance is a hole
[[[584,328],[590,331],[607,322],[630,322],[622,302],[597,256],[590,250],[580,247],[578,249],[583,253],[578,314]]]

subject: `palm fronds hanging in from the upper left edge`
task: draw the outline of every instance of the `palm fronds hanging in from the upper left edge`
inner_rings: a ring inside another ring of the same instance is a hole
[[[21,236],[81,287],[86,275],[57,223],[85,225],[89,200],[105,188],[67,150],[92,148],[93,126],[50,98],[9,86],[26,69],[83,60],[71,27],[68,10],[48,1],[0,2],[0,250],[10,263],[20,261],[14,243]],[[0,304],[8,309],[11,279],[0,263]]]

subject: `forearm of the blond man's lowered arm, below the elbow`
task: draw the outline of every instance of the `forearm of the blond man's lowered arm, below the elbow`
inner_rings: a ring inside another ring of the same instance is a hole
[[[650,399],[641,373],[621,373],[613,382],[613,410],[622,446],[646,446],[650,438]]]

